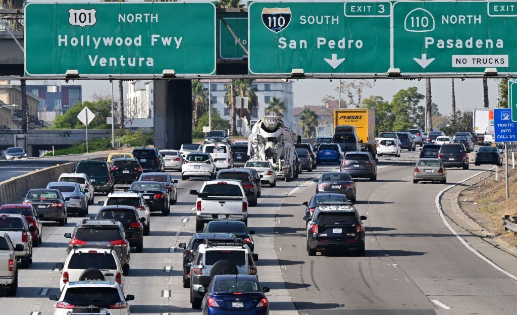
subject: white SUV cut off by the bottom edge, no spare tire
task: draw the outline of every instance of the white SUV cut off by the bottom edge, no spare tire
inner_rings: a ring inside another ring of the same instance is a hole
[[[59,297],[51,294],[49,299],[57,302],[54,315],[130,315],[128,301],[133,301],[134,295],[124,296],[117,282],[74,281],[65,284]],[[92,313],[92,308],[99,308],[98,312]]]

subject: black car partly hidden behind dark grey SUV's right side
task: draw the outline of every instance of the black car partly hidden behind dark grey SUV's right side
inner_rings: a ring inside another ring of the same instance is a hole
[[[139,219],[138,211],[132,206],[103,206],[97,214],[97,219],[117,220],[122,223],[124,232],[129,240],[129,246],[135,247],[136,252],[144,249],[144,224]]]

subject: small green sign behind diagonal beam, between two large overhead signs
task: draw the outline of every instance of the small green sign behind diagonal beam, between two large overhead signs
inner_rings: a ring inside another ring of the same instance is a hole
[[[237,38],[248,47],[248,18],[224,18]],[[233,37],[226,25],[219,20],[219,58],[221,59],[242,59],[247,56],[240,47],[238,41]]]

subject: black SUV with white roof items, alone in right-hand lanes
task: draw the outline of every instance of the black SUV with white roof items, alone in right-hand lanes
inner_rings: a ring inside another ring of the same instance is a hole
[[[362,220],[352,205],[335,203],[320,203],[314,209],[312,218],[307,224],[307,252],[315,256],[316,251],[356,249],[359,256],[364,256],[364,226]]]

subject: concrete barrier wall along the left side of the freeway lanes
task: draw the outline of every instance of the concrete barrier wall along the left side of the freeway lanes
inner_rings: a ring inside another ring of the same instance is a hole
[[[0,182],[0,204],[20,203],[20,197],[24,197],[29,189],[47,187],[62,173],[73,173],[75,165],[76,162],[60,164]]]

